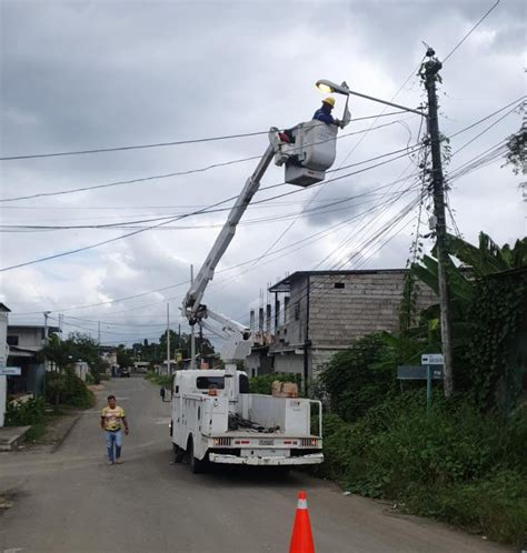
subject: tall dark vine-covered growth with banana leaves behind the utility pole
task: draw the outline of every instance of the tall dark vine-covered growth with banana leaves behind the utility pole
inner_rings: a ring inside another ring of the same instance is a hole
[[[527,267],[527,238],[500,248],[484,232],[477,247],[448,235],[447,248],[455,384],[481,405],[493,406],[500,401],[498,389],[510,383],[509,360],[525,324],[526,278],[510,270]],[[412,271],[437,293],[437,259],[425,255]],[[427,309],[422,319],[438,328],[438,305]]]

